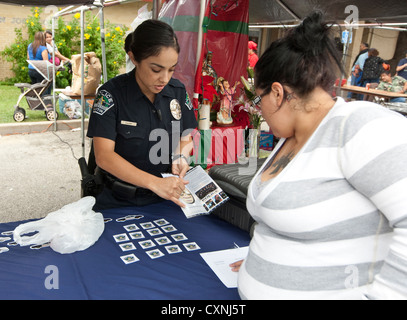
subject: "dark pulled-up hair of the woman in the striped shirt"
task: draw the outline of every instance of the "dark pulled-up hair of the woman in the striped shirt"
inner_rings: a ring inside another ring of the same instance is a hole
[[[271,44],[255,67],[255,85],[266,90],[274,82],[290,86],[299,96],[316,87],[329,92],[342,70],[340,52],[322,12],[311,13],[288,35]]]

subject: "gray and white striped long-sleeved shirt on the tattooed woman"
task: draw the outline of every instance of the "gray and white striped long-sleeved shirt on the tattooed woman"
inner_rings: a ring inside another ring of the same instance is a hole
[[[407,298],[406,118],[338,98],[287,167],[259,185],[263,168],[248,191],[258,225],[242,298]]]

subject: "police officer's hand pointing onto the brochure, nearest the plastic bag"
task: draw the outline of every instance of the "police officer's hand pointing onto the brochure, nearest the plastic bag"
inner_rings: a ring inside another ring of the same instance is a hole
[[[184,192],[185,185],[189,182],[178,177],[167,177],[158,179],[158,183],[152,191],[163,199],[171,200],[180,207],[184,208],[185,204],[179,200]]]

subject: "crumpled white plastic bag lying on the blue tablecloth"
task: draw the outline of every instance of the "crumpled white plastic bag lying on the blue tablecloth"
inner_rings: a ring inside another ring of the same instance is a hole
[[[50,242],[50,247],[62,254],[85,250],[99,239],[105,228],[103,215],[92,210],[94,204],[94,197],[84,197],[41,220],[21,224],[14,230],[14,241],[20,246]],[[33,232],[37,233],[24,236]]]

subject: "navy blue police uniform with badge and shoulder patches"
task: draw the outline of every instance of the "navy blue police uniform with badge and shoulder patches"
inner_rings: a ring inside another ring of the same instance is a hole
[[[98,90],[87,136],[115,141],[115,152],[140,170],[157,177],[171,171],[171,156],[181,135],[197,127],[185,86],[171,79],[154,103],[142,93],[135,69],[117,76]],[[97,168],[105,187],[95,210],[142,206],[162,201],[152,191],[136,188]]]

